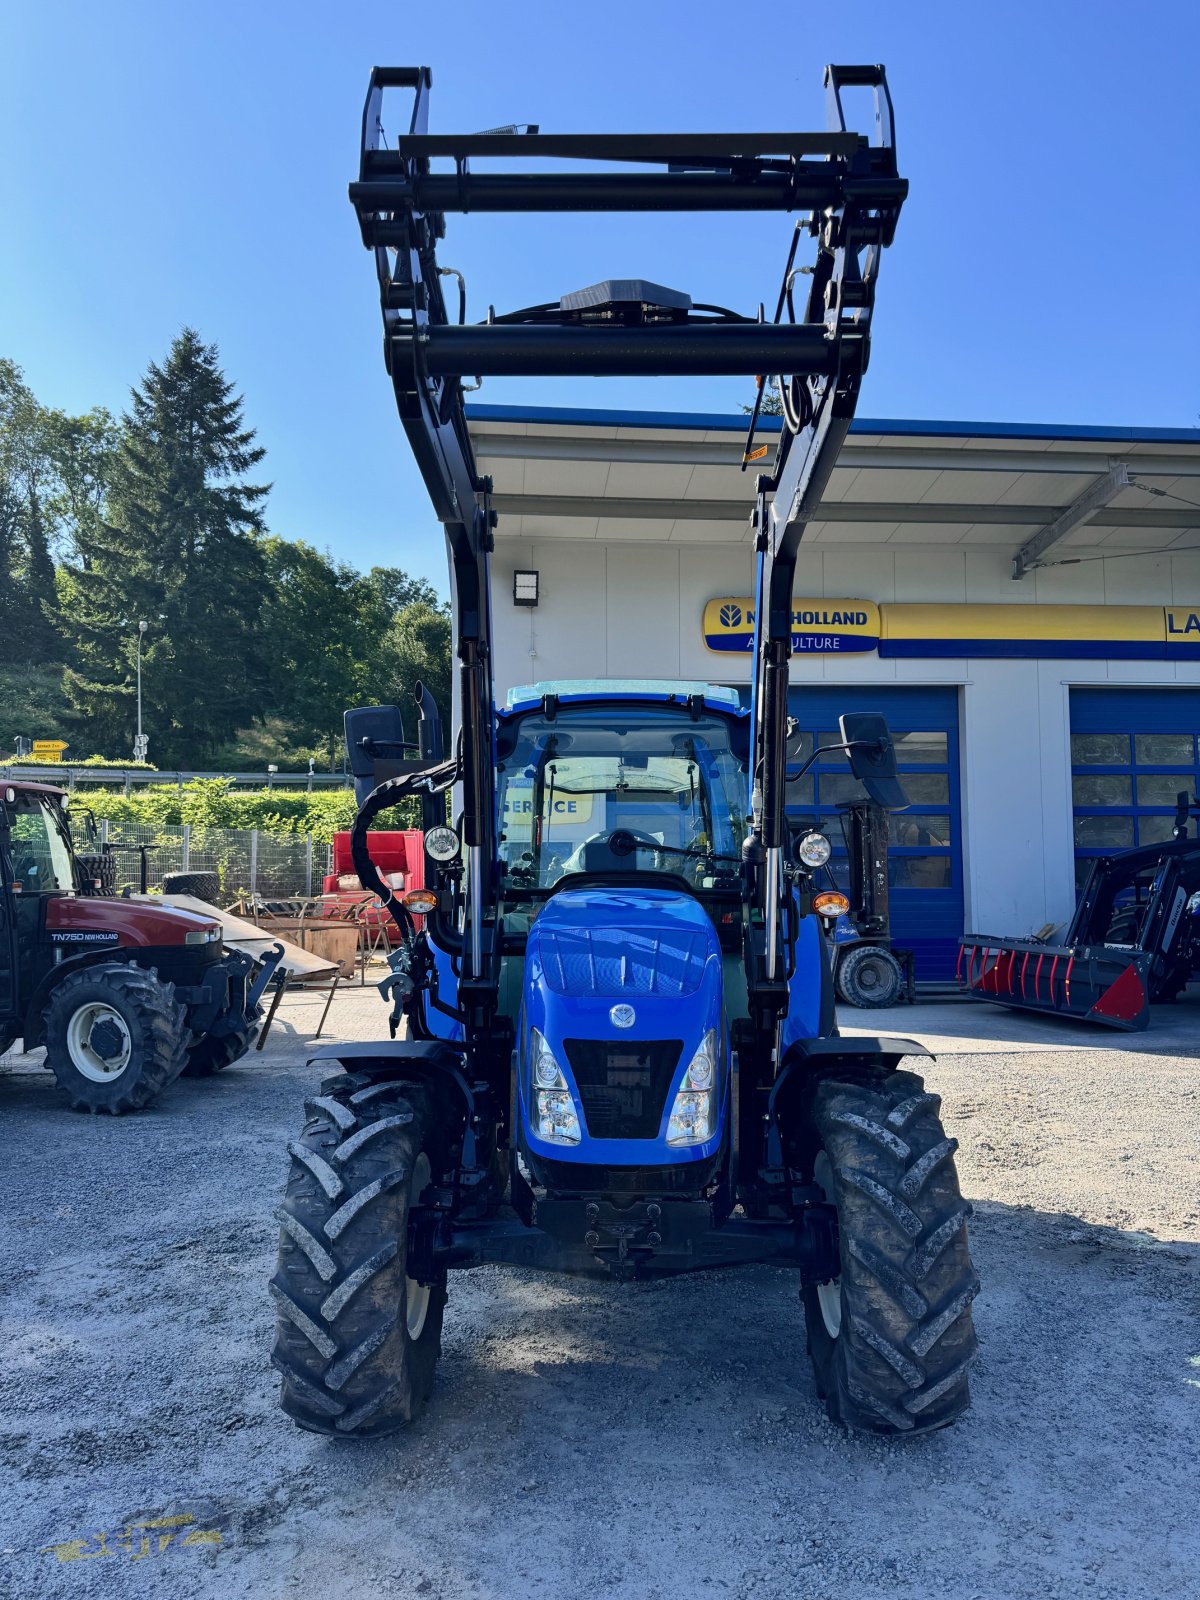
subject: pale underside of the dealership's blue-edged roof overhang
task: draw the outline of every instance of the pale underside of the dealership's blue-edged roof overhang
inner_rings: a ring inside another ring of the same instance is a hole
[[[501,539],[749,541],[744,416],[490,405],[467,416]],[[760,419],[758,442],[779,426]],[[1014,574],[1080,547],[1200,549],[1200,429],[859,418],[805,539],[989,546]]]

